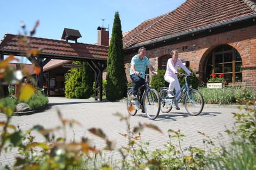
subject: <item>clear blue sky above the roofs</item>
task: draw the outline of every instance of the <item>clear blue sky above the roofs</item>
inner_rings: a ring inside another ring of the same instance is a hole
[[[35,37],[60,40],[64,28],[77,29],[79,43],[97,43],[97,28],[109,27],[111,37],[115,12],[119,12],[122,31],[137,27],[141,22],[173,11],[186,0],[8,0],[1,2],[0,37],[5,33],[22,33],[20,23],[29,31],[39,20]],[[104,21],[102,22],[102,19]],[[171,27],[171,25],[170,25]]]

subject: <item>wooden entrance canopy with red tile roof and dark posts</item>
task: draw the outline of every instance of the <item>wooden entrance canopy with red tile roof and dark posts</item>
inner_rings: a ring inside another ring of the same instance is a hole
[[[18,36],[5,34],[0,41],[0,60],[4,55],[25,56],[26,52],[18,44]],[[84,61],[87,62],[95,73],[94,98],[102,100],[102,72],[107,67],[108,46],[99,46],[83,43],[68,43],[63,40],[27,37],[29,48],[42,49],[39,56],[31,56],[29,60],[41,67],[41,73],[37,75],[40,88],[43,87],[43,66],[52,59]],[[99,96],[98,96],[99,92]]]

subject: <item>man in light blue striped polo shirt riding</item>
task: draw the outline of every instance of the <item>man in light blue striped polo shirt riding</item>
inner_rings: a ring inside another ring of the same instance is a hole
[[[138,54],[132,57],[131,60],[131,69],[130,69],[130,77],[132,82],[134,83],[133,91],[132,91],[132,99],[137,99],[138,89],[140,86],[145,84],[145,72],[146,66],[149,67],[149,70],[153,74],[157,74],[153,66],[150,64],[148,57],[146,55],[146,48],[141,47],[138,50]],[[141,74],[142,73],[142,74]],[[143,94],[144,88],[141,89],[141,94]]]

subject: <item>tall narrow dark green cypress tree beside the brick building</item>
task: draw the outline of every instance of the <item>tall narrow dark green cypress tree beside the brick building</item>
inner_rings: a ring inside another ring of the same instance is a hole
[[[119,13],[115,13],[108,49],[106,97],[115,101],[126,96],[127,85],[124,67],[123,34]]]

